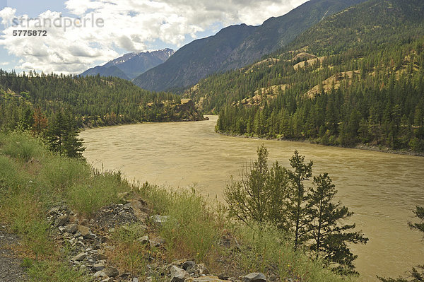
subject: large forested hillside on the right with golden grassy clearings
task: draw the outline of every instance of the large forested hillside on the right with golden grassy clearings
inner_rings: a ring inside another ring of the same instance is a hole
[[[423,1],[367,1],[187,97],[218,131],[424,151]]]

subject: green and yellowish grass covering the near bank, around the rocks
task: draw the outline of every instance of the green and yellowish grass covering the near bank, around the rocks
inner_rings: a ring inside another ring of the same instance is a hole
[[[298,281],[354,281],[341,278],[302,252],[293,252],[290,240],[271,227],[249,228],[227,217],[223,206],[205,199],[194,189],[175,191],[145,183],[130,185],[118,172],[100,172],[81,160],[62,158],[25,134],[0,134],[0,221],[22,238],[20,251],[28,259],[30,281],[90,281],[64,262],[49,237],[46,213],[67,204],[73,211],[92,216],[102,206],[122,201],[122,192],[136,192],[148,202],[152,214],[168,216],[160,226],[127,225],[112,233],[112,261],[126,271],[143,274],[148,264],[173,259],[204,262],[213,274],[241,276],[262,271]],[[150,248],[139,237],[160,235],[165,246]],[[224,238],[230,238],[225,245]],[[155,281],[161,281],[160,277]]]

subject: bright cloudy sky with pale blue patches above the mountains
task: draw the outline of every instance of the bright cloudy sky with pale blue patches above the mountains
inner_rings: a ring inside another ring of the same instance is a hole
[[[0,0],[0,69],[80,74],[129,52],[177,50],[228,25],[260,25],[306,1]]]

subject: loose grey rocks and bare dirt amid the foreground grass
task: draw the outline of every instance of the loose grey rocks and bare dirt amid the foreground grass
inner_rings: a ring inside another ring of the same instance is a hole
[[[128,201],[127,204],[106,206],[93,216],[90,221],[82,219],[66,206],[57,206],[47,213],[52,224],[54,239],[59,245],[67,246],[71,251],[67,254],[71,267],[86,271],[95,281],[131,281],[153,282],[158,277],[161,281],[170,282],[266,282],[266,276],[260,273],[246,276],[229,277],[213,275],[204,264],[192,259],[182,259],[172,263],[152,262],[148,265],[148,273],[143,277],[131,274],[108,261],[107,251],[114,249],[110,242],[110,234],[115,228],[136,223],[142,229],[151,225],[160,225],[167,216],[148,216],[146,203],[141,199]],[[150,248],[163,245],[160,237],[146,235],[139,238],[141,244]],[[155,278],[153,278],[155,277]],[[272,279],[270,279],[272,280]]]

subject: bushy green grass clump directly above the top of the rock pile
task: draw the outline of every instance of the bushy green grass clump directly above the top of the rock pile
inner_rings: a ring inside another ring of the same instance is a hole
[[[66,194],[69,205],[79,213],[93,216],[102,206],[118,204],[119,196],[130,185],[122,180],[119,172],[94,172],[88,179],[74,182]]]

